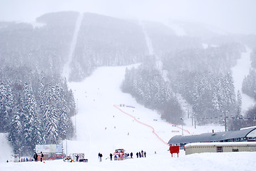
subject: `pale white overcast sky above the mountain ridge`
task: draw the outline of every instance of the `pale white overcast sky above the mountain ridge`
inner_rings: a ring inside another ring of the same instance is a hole
[[[199,21],[231,33],[256,34],[256,0],[0,0],[0,21],[34,21],[55,11]]]

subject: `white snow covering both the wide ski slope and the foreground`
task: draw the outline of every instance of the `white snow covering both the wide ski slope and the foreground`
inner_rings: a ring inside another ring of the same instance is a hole
[[[78,115],[73,118],[76,123],[77,137],[76,140],[63,141],[64,152],[68,154],[84,152],[88,163],[67,163],[62,160],[45,163],[1,161],[0,170],[233,171],[255,169],[255,152],[185,155],[182,150],[179,157],[177,155],[171,157],[165,142],[174,135],[181,135],[182,125],[166,123],[165,120],[160,119],[158,113],[144,108],[130,95],[122,93],[120,86],[125,70],[126,67],[121,66],[101,67],[82,83],[69,83],[78,103]],[[195,129],[190,125],[190,121],[185,120],[187,124],[183,125],[184,135],[207,133],[213,129],[223,130],[222,127],[214,125]],[[4,147],[1,147],[1,152]],[[124,148],[126,152],[133,152],[134,155],[135,152],[144,150],[147,152],[147,157],[123,161],[106,159],[117,148]],[[98,161],[98,152],[103,154],[103,162]]]

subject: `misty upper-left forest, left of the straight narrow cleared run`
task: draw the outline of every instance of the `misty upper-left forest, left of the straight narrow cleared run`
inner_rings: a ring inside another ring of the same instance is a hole
[[[0,22],[1,65],[62,73],[77,17],[78,12],[45,14],[36,19],[40,27]]]

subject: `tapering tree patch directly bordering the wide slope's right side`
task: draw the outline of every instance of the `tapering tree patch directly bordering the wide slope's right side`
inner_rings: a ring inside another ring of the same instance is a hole
[[[153,62],[126,69],[122,90],[133,95],[138,103],[157,110],[163,119],[178,124],[182,117],[178,100]]]

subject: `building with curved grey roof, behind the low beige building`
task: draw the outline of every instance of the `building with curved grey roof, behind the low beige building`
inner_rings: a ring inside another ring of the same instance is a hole
[[[200,135],[176,135],[170,138],[168,145],[178,145],[184,147],[184,145],[193,142],[247,142],[255,141],[256,139],[256,127],[243,128],[237,131],[228,131],[220,133],[203,133]]]

